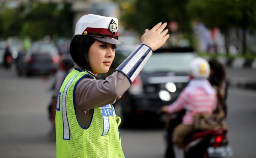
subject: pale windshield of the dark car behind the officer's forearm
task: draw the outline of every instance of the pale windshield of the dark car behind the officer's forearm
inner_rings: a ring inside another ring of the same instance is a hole
[[[187,72],[193,53],[153,53],[144,66],[144,72],[175,71]]]

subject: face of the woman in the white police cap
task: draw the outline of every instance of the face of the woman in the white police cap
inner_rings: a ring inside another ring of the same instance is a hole
[[[95,40],[91,45],[88,58],[94,75],[107,73],[115,57],[116,45]]]

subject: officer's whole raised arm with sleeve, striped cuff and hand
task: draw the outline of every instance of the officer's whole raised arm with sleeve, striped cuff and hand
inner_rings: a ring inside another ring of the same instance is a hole
[[[158,23],[151,30],[146,29],[140,44],[105,80],[84,78],[79,81],[75,90],[75,102],[79,109],[85,111],[102,105],[111,104],[120,99],[130,87],[133,80],[142,70],[152,55],[152,51],[160,48],[169,35],[163,30],[166,23]]]

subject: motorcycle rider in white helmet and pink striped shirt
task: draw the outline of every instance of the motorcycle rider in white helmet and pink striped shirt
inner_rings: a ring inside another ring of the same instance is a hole
[[[207,60],[197,57],[190,63],[191,80],[187,87],[180,93],[178,99],[168,106],[163,106],[162,111],[176,113],[186,110],[183,121],[175,127],[172,134],[175,157],[180,155],[184,148],[184,139],[194,131],[194,115],[212,114],[216,108],[216,90],[207,78],[210,75],[210,66]]]

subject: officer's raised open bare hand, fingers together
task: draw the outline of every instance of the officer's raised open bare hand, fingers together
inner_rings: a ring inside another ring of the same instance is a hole
[[[170,36],[169,34],[166,35],[168,33],[168,29],[165,29],[166,25],[166,22],[163,24],[158,23],[151,30],[146,29],[141,36],[142,43],[151,47],[153,51],[160,48]]]

